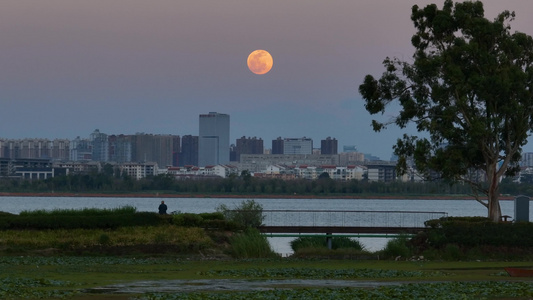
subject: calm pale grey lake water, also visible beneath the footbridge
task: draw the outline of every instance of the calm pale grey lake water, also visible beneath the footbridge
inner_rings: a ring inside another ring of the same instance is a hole
[[[25,210],[119,208],[133,206],[137,211],[157,212],[161,201],[168,211],[187,213],[214,212],[221,204],[239,205],[245,199],[235,198],[106,198],[106,197],[0,197],[0,211],[18,214]],[[487,209],[475,200],[405,200],[405,199],[254,199],[265,210],[362,210],[362,211],[431,211],[448,216],[486,216]],[[502,214],[514,217],[514,201],[501,201]],[[529,219],[533,220],[532,202]],[[293,238],[269,238],[275,251],[292,252]],[[387,239],[361,238],[371,251],[382,249]]]

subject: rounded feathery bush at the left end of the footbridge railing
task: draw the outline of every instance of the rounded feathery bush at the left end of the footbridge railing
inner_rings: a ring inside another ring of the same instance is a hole
[[[244,228],[259,227],[265,219],[263,206],[254,200],[242,201],[234,209],[230,209],[227,205],[221,204],[217,207],[216,211],[221,213],[225,220],[235,222]]]

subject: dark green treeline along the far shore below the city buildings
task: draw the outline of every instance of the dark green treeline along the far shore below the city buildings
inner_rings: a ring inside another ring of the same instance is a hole
[[[502,199],[533,194],[533,185],[511,179],[500,185]],[[177,180],[162,174],[134,179],[114,173],[58,176],[43,180],[0,178],[0,196],[29,197],[157,197],[157,198],[336,198],[336,199],[469,199],[467,184],[375,182],[368,180],[282,180],[249,173],[228,178]]]

